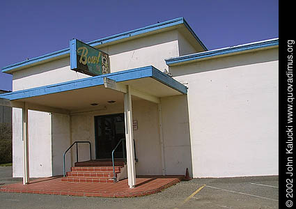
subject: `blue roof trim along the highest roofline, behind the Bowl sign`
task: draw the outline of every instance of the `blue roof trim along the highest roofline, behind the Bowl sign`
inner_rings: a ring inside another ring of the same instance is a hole
[[[87,44],[91,45],[92,47],[95,47],[95,46],[98,46],[98,45],[106,44],[108,42],[114,42],[116,40],[122,40],[122,39],[125,39],[125,38],[130,38],[132,36],[138,36],[138,35],[143,34],[143,33],[148,33],[148,32],[156,31],[156,30],[159,30],[159,29],[165,29],[165,28],[170,27],[170,26],[176,26],[178,24],[184,24],[186,26],[186,28],[192,33],[194,38],[196,38],[196,40],[201,44],[201,46],[205,50],[208,50],[208,49],[206,49],[205,45],[203,45],[201,40],[198,39],[198,37],[196,36],[194,31],[192,31],[192,29],[190,28],[190,26],[187,24],[187,22],[184,20],[183,17],[179,17],[179,18],[176,18],[174,20],[169,20],[169,21],[166,21],[166,22],[160,22],[160,23],[157,23],[157,24],[153,24],[153,25],[150,25],[150,26],[143,27],[141,29],[135,29],[135,30],[132,30],[132,31],[127,31],[125,33],[119,33],[117,35],[109,36],[107,38],[100,38],[98,40],[93,40],[91,42],[88,42]],[[2,72],[10,73],[9,72],[10,70],[15,70],[17,68],[20,68],[20,67],[23,67],[23,66],[26,66],[26,65],[31,65],[33,63],[38,63],[40,61],[45,61],[47,59],[52,59],[54,57],[62,56],[64,54],[69,54],[69,53],[70,53],[70,48],[62,49],[60,51],[45,54],[43,56],[38,56],[36,58],[29,59],[29,60],[26,60],[26,61],[22,61],[20,63],[15,63],[13,65],[8,65],[8,66],[2,68]]]

